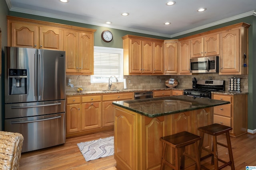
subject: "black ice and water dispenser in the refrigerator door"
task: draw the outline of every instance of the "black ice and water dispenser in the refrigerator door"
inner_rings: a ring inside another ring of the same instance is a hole
[[[9,95],[27,94],[27,70],[26,69],[9,69]]]

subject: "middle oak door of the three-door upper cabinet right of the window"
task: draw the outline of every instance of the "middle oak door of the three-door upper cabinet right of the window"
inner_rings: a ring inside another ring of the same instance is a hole
[[[153,54],[153,42],[142,41],[142,73],[153,73]]]

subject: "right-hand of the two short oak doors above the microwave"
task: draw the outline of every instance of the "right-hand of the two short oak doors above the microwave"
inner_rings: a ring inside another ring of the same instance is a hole
[[[204,56],[214,56],[220,54],[220,34],[208,35],[204,37]]]

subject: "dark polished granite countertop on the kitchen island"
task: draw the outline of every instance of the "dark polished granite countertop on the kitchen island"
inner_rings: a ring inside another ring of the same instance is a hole
[[[193,98],[190,96],[168,96],[162,98],[117,101],[113,102],[113,104],[147,117],[158,117],[230,104],[230,102],[207,98]],[[172,107],[168,107],[170,106],[168,104],[172,104]],[[154,107],[156,105],[161,105],[162,107]]]

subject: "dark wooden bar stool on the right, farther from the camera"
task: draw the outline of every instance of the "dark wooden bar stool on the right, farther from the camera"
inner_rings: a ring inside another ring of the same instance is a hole
[[[229,135],[229,131],[232,130],[232,127],[228,127],[228,126],[225,126],[225,125],[220,125],[218,123],[214,123],[212,125],[199,127],[198,130],[200,131],[200,136],[202,137],[202,140],[199,143],[200,158],[201,158],[202,149],[206,150],[207,152],[210,153],[210,154],[202,157],[201,161],[206,159],[206,158],[209,158],[210,156],[212,156],[212,164],[214,163],[214,170],[220,170],[220,169],[222,169],[226,166],[230,166],[232,170],[235,170],[234,159],[233,159],[233,154],[232,154],[232,147],[231,147],[231,141],[230,141],[230,135]],[[206,149],[206,148],[202,147],[203,141],[204,141],[204,133],[212,135],[212,140],[213,140],[212,141],[212,150],[209,150],[209,149]],[[226,134],[227,145],[224,145],[222,143],[217,142],[217,136],[221,135],[221,134],[224,134],[224,133]],[[218,158],[217,144],[221,145],[222,147],[228,148],[228,154],[229,154],[229,159],[230,159],[229,162],[226,162],[226,161],[221,160],[220,158]],[[218,166],[218,161],[220,161],[224,164],[219,167]],[[205,166],[202,166],[202,168],[206,169],[206,170],[209,170]]]

